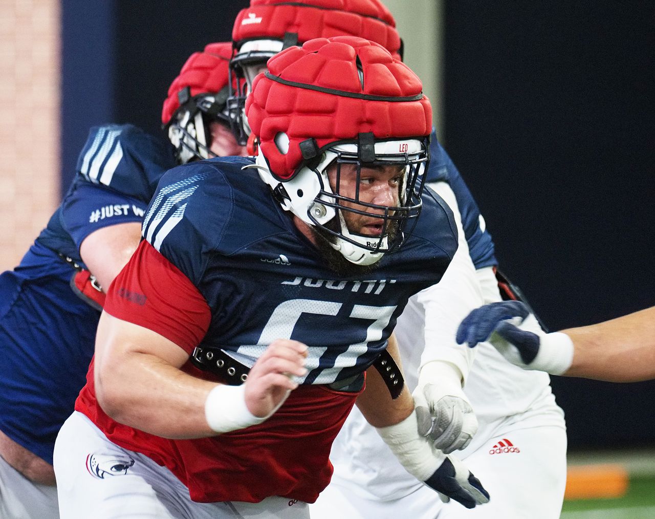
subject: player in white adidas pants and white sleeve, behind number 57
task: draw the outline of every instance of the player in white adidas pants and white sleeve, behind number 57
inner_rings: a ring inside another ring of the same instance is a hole
[[[246,95],[265,61],[307,37],[335,32],[365,35],[396,56],[402,50],[394,18],[377,0],[339,7],[328,0],[293,4],[252,0],[250,7],[238,14],[232,69],[239,80],[234,84],[240,88],[228,103],[243,142],[250,135],[252,144],[254,137],[247,118],[242,117]],[[457,324],[468,311],[501,299],[495,270],[498,262],[476,202],[434,132],[430,157],[428,185],[451,205],[466,244],[460,243],[445,279],[410,300],[396,327],[408,385],[413,390],[418,385],[419,407],[432,415],[424,417],[422,431],[429,431],[435,446],[445,452],[465,448],[458,456],[485,472],[482,480],[493,487],[494,499],[475,514],[558,517],[566,479],[563,412],[555,404],[546,375],[521,372],[488,344],[479,347],[473,364],[472,353],[455,343]],[[504,297],[515,297],[504,280],[502,286]],[[417,377],[419,369],[421,377]],[[432,518],[471,513],[457,503],[443,505],[432,490],[403,471],[377,436],[354,409],[333,446],[332,483],[310,507],[312,516],[377,518],[398,513]],[[518,447],[508,446],[504,452],[505,442],[512,441]],[[548,444],[548,450],[542,449],[542,444]],[[502,455],[495,455],[498,449]],[[533,499],[534,488],[540,489],[538,500]]]

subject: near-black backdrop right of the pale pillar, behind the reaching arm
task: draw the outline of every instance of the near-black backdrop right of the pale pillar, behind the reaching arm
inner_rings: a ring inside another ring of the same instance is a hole
[[[448,1],[445,147],[552,330],[655,305],[654,9]],[[655,445],[655,383],[553,377],[572,448]]]

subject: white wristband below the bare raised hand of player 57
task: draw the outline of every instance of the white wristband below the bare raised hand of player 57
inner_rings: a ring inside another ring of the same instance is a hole
[[[262,423],[268,416],[253,415],[246,406],[246,385],[217,385],[205,400],[205,418],[216,433],[229,433]]]

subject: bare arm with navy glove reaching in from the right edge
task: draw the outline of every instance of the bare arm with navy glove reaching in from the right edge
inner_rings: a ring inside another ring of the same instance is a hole
[[[475,309],[460,324],[457,341],[488,340],[524,370],[608,382],[655,379],[655,307],[605,322],[547,334],[520,301]]]

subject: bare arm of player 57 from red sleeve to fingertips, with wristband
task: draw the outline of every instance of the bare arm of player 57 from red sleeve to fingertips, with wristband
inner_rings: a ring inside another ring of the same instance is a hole
[[[246,382],[186,374],[187,352],[156,332],[103,312],[96,334],[98,403],[116,421],[164,438],[200,438],[268,419],[307,374],[307,345],[276,339]]]

